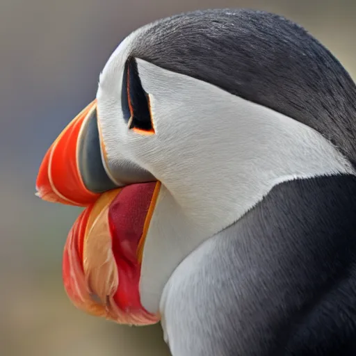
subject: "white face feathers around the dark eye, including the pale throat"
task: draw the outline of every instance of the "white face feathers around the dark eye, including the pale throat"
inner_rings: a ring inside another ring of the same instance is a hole
[[[139,30],[140,31],[140,30]],[[129,131],[121,107],[124,63],[136,34],[114,52],[97,92],[109,164],[148,170],[163,186],[143,252],[140,296],[157,312],[178,264],[282,181],[352,173],[321,134],[204,81],[137,59],[156,134]]]

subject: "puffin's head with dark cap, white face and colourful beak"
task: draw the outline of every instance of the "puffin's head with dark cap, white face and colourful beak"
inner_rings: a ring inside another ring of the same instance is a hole
[[[355,85],[339,62],[277,15],[196,11],[131,33],[40,166],[42,199],[86,207],[65,244],[70,299],[159,321],[163,287],[202,241],[280,181],[351,169],[343,92]]]

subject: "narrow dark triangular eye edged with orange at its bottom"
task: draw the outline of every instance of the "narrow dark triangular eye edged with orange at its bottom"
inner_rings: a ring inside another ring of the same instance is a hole
[[[154,134],[149,95],[143,90],[134,58],[127,60],[125,65],[121,102],[124,120],[130,130]]]

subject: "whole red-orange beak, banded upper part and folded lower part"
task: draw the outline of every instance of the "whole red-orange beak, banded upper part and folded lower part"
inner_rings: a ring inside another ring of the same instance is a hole
[[[117,323],[159,321],[140,303],[139,281],[147,229],[161,183],[113,181],[91,102],[49,147],[36,180],[42,200],[86,207],[65,243],[63,282],[84,311]]]

